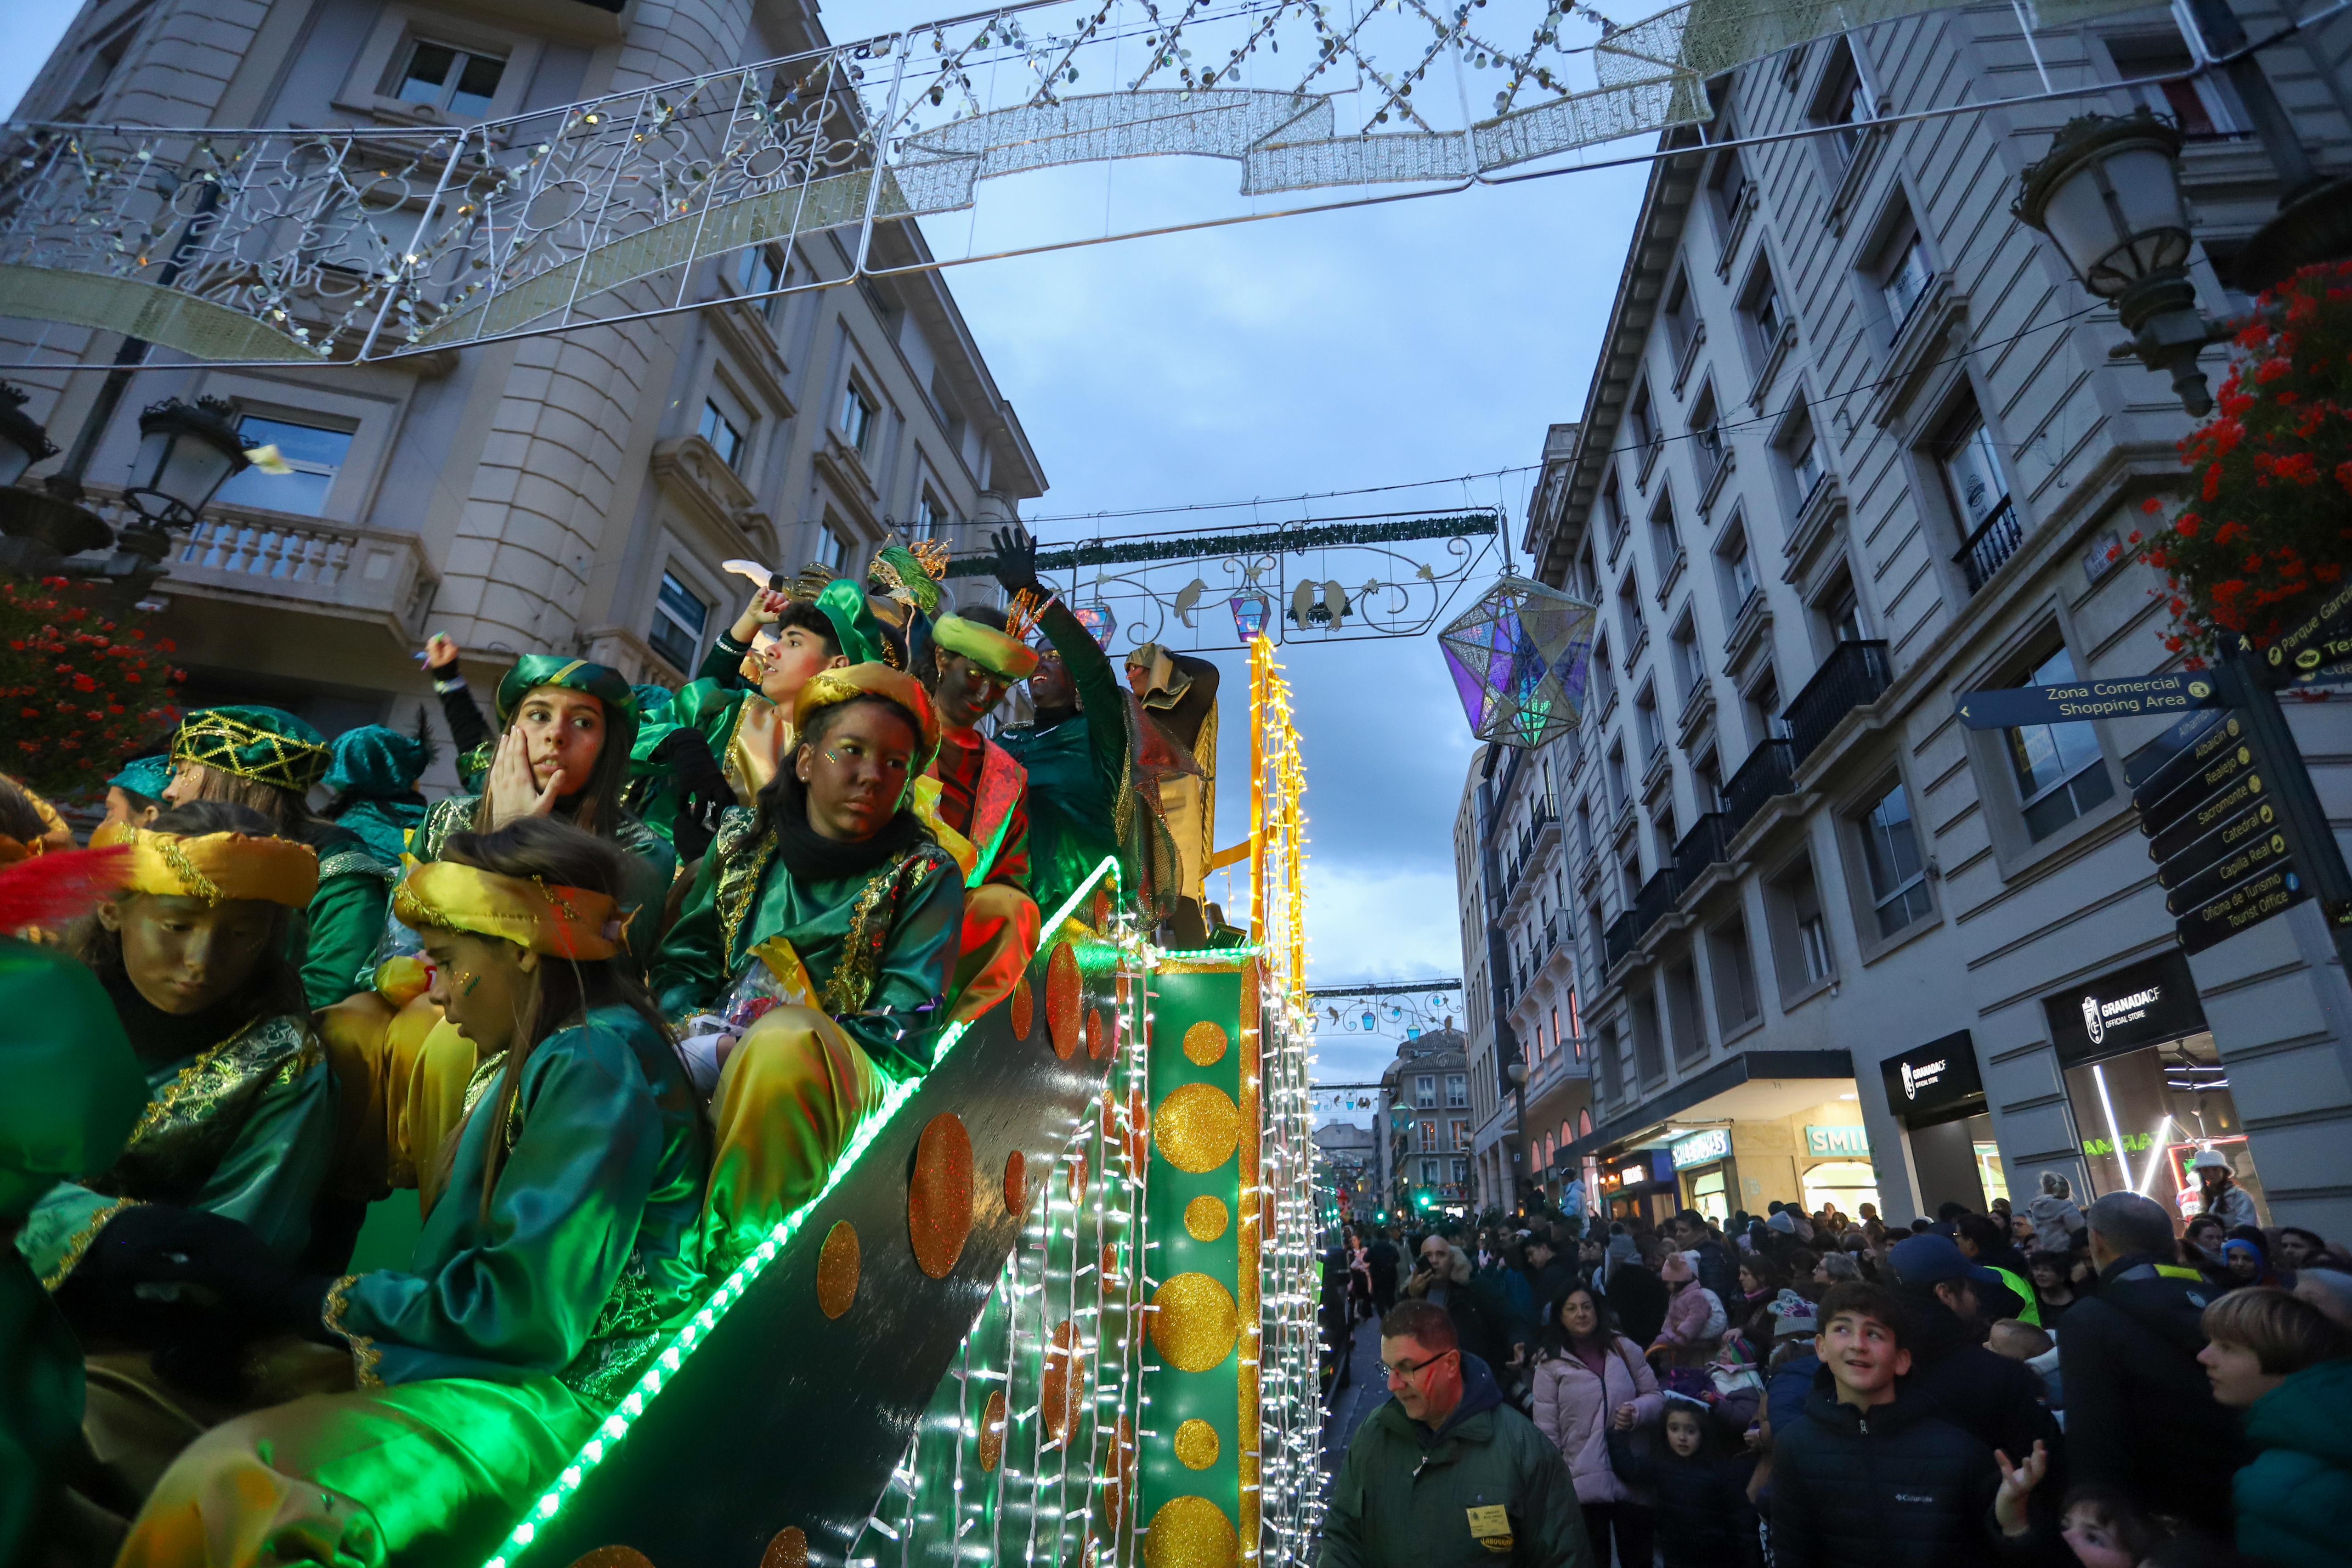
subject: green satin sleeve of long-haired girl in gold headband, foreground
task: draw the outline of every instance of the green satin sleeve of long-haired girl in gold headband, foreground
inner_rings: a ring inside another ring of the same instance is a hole
[[[492,1088],[496,1093],[496,1088]],[[447,1194],[409,1272],[360,1274],[329,1326],[383,1382],[557,1373],[588,1342],[637,1241],[663,1152],[654,1091],[628,1041],[572,1027],[522,1067],[520,1133],[482,1220],[496,1117],[466,1119]]]

